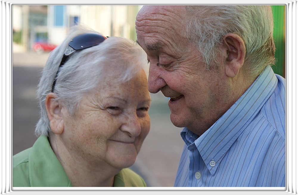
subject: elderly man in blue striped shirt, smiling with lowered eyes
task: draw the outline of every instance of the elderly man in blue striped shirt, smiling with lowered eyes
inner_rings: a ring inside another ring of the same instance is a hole
[[[148,89],[185,142],[174,186],[285,186],[285,79],[270,6],[144,6]]]

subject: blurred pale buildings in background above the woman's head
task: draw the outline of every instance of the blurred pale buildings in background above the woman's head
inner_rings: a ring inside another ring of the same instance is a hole
[[[136,40],[139,5],[13,5],[13,41],[32,49],[35,42],[59,45],[69,27],[82,23],[105,36]]]

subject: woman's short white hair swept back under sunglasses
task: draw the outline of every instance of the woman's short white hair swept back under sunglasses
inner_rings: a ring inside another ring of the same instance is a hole
[[[36,124],[36,135],[49,135],[51,131],[45,107],[45,98],[52,91],[54,78],[61,59],[74,37],[84,33],[96,33],[82,25],[74,26],[68,37],[49,55],[38,84],[37,97],[40,119]],[[148,76],[146,53],[133,41],[121,37],[109,37],[99,45],[73,53],[59,68],[54,93],[57,100],[74,116],[84,94],[105,85],[104,77],[117,74],[117,82],[130,80],[140,70]]]

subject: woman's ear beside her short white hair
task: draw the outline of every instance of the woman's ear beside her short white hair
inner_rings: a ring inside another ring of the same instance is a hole
[[[55,134],[61,134],[64,131],[64,121],[61,114],[62,107],[55,98],[55,93],[49,93],[46,95],[45,106],[52,132]]]

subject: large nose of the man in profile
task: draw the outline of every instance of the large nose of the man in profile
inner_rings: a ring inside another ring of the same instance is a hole
[[[148,75],[148,91],[150,93],[159,92],[167,83],[163,79],[162,67],[155,64],[149,66],[149,75]]]

